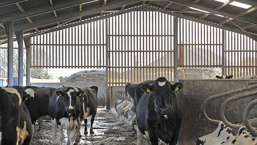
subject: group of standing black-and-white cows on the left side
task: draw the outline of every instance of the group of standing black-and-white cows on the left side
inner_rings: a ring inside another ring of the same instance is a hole
[[[81,121],[91,118],[90,133],[97,113],[98,87],[86,88],[12,86],[0,87],[0,145],[29,145],[37,120],[51,120],[53,145],[57,129],[60,145],[63,144],[63,127],[67,130],[68,145],[78,144],[81,138]],[[40,123],[39,123],[40,125]],[[39,126],[40,128],[40,126]]]

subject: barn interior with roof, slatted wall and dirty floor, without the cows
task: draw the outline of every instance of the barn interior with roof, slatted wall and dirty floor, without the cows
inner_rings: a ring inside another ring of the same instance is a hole
[[[255,0],[3,0],[0,49],[7,54],[1,56],[1,71],[9,86],[97,86],[95,134],[82,135],[80,144],[136,144],[134,115],[122,115],[117,105],[133,107],[128,83],[159,77],[183,84],[179,144],[197,144],[220,122],[257,135],[256,10]],[[103,71],[35,83],[35,68]],[[223,74],[232,79],[215,77]],[[51,123],[42,126],[34,131],[33,145],[52,143]]]

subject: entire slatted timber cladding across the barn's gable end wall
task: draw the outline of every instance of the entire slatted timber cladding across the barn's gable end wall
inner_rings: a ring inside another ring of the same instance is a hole
[[[178,19],[175,27],[174,19]],[[101,69],[108,65],[109,86],[160,76],[173,81],[174,63],[178,67],[224,67],[234,78],[257,74],[257,44],[246,35],[157,11],[129,11],[110,17],[107,29],[105,22],[33,37],[31,67]],[[178,33],[174,34],[176,28]],[[174,60],[174,36],[178,39],[178,60]]]

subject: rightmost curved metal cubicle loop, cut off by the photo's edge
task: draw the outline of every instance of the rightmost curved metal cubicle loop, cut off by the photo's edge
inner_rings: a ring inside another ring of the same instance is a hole
[[[248,115],[250,110],[257,104],[257,99],[253,100],[252,102],[250,102],[246,108],[244,109],[244,114],[243,114],[243,121],[244,124],[246,126],[246,128],[254,135],[257,135],[257,130],[255,130],[256,128],[253,128],[248,120]]]

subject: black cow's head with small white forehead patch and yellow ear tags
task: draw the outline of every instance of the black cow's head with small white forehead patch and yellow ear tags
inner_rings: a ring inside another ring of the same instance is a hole
[[[169,109],[175,93],[183,87],[181,83],[170,84],[166,78],[158,78],[152,86],[143,84],[141,89],[154,96],[155,111],[162,119],[168,119]]]

